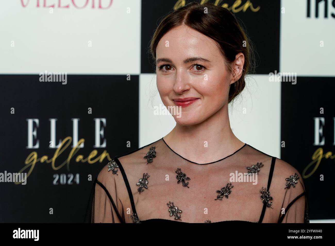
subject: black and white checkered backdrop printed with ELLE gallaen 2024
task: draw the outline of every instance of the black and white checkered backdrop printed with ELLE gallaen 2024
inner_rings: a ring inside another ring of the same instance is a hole
[[[28,175],[0,183],[0,222],[82,222],[88,175],[173,129],[171,115],[153,113],[162,102],[148,47],[162,17],[188,2],[0,2],[0,173]],[[311,222],[333,222],[335,1],[217,2],[257,49],[256,74],[229,105],[234,134],[297,168]],[[41,81],[54,72],[66,84]],[[296,83],[269,79],[279,72]]]

